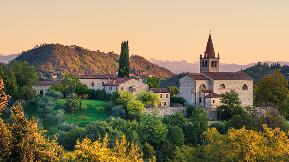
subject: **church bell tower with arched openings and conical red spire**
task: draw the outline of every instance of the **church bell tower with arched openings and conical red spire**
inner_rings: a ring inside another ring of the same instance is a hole
[[[215,57],[214,46],[211,38],[211,31],[204,57],[200,56],[200,73],[201,72],[219,72],[220,56]]]

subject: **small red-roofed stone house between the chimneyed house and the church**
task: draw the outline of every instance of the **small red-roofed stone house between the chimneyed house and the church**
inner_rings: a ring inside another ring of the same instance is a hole
[[[159,105],[155,107],[170,107],[170,91],[165,88],[151,88],[149,92],[159,94],[160,102]]]

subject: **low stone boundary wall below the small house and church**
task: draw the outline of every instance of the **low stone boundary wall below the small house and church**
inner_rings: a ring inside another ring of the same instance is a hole
[[[164,114],[172,115],[176,112],[187,115],[187,107],[156,107],[159,109],[159,116],[163,117]],[[207,117],[210,119],[217,119],[217,114],[215,113],[215,108],[202,108],[206,111]],[[155,110],[155,107],[149,107],[146,110],[143,110],[143,113],[151,114]]]

